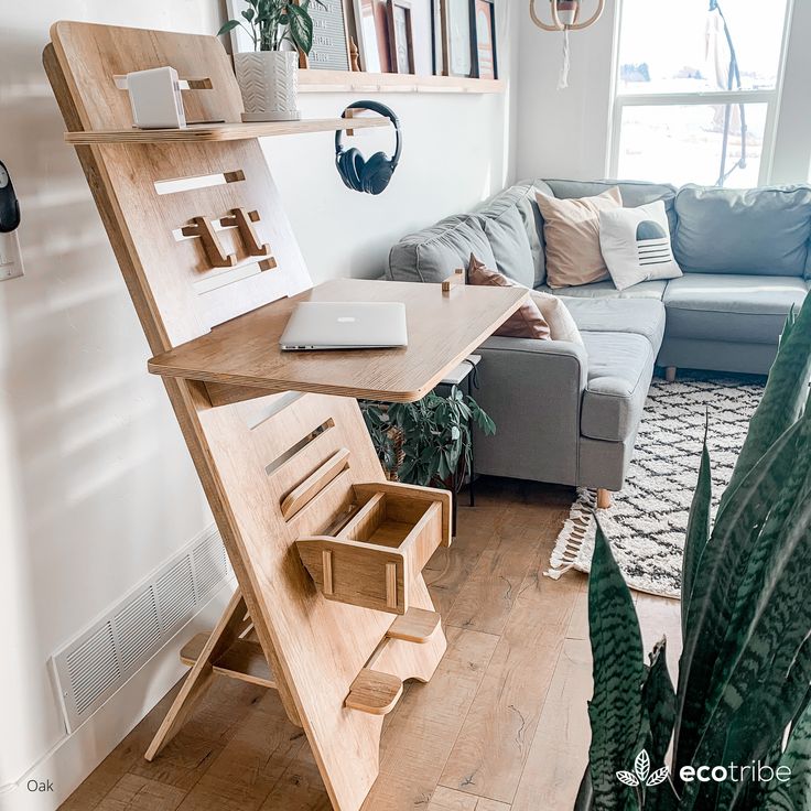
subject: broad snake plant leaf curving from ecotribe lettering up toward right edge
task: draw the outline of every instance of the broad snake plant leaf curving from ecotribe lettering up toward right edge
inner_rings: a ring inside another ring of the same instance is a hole
[[[790,475],[799,433],[799,423],[796,423],[744,478],[726,509],[717,516],[696,566],[679,666],[674,731],[677,775],[681,766],[693,760],[706,722],[711,677],[729,624],[737,586],[753,543]]]

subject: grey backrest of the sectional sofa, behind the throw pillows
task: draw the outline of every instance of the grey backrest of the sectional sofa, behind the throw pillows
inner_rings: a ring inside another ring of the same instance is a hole
[[[547,278],[543,218],[536,192],[590,197],[619,186],[626,207],[661,199],[673,253],[685,272],[811,279],[811,186],[746,191],[642,181],[526,180],[471,214],[447,217],[404,237],[389,255],[389,277],[440,282],[466,268],[471,253],[527,286]]]

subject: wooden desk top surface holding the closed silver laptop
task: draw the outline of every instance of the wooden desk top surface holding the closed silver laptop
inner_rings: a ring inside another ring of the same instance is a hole
[[[338,279],[259,307],[149,361],[149,370],[208,383],[269,391],[315,391],[413,402],[523,303],[525,288]],[[279,338],[300,301],[399,301],[409,345],[393,349],[282,352]]]

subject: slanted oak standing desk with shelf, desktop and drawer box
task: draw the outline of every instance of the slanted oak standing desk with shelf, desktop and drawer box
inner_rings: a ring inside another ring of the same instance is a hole
[[[420,397],[528,293],[357,281],[311,291],[257,138],[327,123],[242,126],[214,36],[61,22],[51,39],[44,64],[66,140],[239,582],[210,635],[184,647],[188,677],[147,758],[216,674],[245,679],[279,691],[334,808],[357,811],[377,777],[382,715],[446,647],[420,570],[451,542],[451,496],[386,482],[354,397]],[[117,77],[165,65],[187,82],[188,118],[223,127],[133,133]],[[285,296],[300,293],[404,299],[412,343],[282,357]]]

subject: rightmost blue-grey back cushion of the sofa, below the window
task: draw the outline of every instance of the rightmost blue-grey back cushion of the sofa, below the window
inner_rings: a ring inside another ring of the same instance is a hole
[[[811,187],[704,188],[675,197],[673,252],[684,271],[802,277],[811,237]]]

